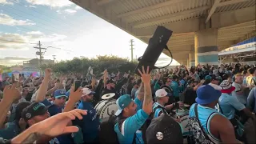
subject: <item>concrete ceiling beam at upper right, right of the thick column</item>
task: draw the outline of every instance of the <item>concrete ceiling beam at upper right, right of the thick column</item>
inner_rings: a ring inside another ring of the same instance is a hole
[[[213,14],[211,22],[213,28],[221,28],[232,26],[243,22],[251,22],[256,19],[255,6],[247,7],[240,10],[232,10],[228,12]]]

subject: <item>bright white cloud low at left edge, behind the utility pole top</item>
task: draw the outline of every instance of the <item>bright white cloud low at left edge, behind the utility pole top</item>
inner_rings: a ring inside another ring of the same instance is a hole
[[[26,34],[3,33],[0,34],[0,50],[28,50],[31,47],[30,43],[62,41],[64,38],[66,35],[46,35],[40,31],[30,31]]]

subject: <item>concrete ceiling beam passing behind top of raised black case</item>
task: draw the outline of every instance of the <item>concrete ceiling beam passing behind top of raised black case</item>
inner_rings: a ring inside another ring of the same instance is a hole
[[[171,22],[169,24],[163,25],[167,29],[173,30],[174,33],[190,33],[199,30],[199,20],[198,18],[187,19],[179,22]],[[154,34],[154,30],[157,26],[150,26],[142,29],[135,29],[134,33],[138,36],[148,36]],[[136,36],[137,37],[137,36]]]

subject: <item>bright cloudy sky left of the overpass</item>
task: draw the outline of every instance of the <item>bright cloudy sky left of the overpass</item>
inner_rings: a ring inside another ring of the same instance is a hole
[[[134,58],[142,56],[146,43],[69,0],[0,0],[0,65],[38,58],[39,41],[47,48],[44,58],[56,55],[57,62],[106,54],[130,58],[130,39]],[[169,62],[161,54],[157,66]]]

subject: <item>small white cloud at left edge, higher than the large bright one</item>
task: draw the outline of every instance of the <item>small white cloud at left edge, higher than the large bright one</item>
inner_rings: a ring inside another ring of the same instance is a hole
[[[35,23],[30,22],[29,19],[26,20],[17,20],[10,17],[7,14],[0,14],[0,24],[7,26],[31,26],[35,25]]]

